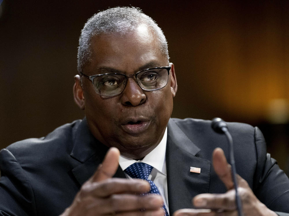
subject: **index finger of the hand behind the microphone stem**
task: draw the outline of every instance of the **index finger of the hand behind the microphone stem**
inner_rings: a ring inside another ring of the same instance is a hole
[[[235,190],[225,194],[199,194],[193,198],[193,204],[197,208],[233,211],[236,209]]]

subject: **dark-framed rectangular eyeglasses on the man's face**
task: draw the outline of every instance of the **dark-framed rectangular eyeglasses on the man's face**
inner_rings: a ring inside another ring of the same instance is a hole
[[[168,83],[170,70],[170,66],[165,66],[149,68],[129,75],[105,73],[88,76],[82,72],[80,74],[90,79],[96,93],[100,96],[114,96],[123,92],[129,77],[135,77],[137,84],[145,91],[154,91],[164,88]]]

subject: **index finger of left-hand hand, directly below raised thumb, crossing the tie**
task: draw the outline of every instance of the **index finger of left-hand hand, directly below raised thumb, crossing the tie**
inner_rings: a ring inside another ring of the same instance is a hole
[[[83,185],[81,196],[107,197],[120,193],[143,194],[149,192],[150,189],[150,184],[142,179],[110,178],[107,181]]]

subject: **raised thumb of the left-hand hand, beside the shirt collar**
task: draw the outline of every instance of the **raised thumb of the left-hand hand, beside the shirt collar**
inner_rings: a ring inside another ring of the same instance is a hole
[[[120,152],[117,148],[111,147],[108,149],[102,164],[99,164],[97,170],[89,179],[91,182],[102,181],[113,177],[118,168],[118,158]]]

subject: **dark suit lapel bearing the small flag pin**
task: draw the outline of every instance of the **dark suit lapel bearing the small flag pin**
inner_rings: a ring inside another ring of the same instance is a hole
[[[170,120],[166,147],[168,205],[172,215],[178,209],[192,208],[192,198],[208,193],[211,162],[197,157],[200,149]],[[190,167],[201,168],[201,173],[191,173]]]

